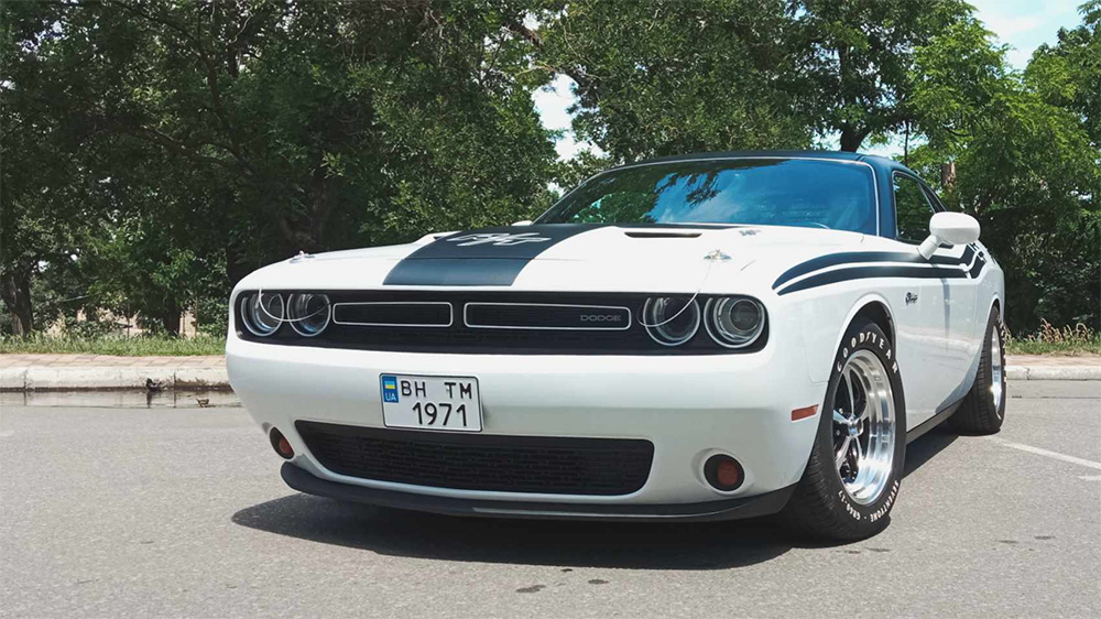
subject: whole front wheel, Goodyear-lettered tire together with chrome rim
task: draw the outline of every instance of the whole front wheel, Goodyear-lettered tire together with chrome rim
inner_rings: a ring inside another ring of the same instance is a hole
[[[875,323],[846,333],[818,434],[782,518],[819,539],[863,540],[887,524],[906,454],[906,404],[892,341]]]

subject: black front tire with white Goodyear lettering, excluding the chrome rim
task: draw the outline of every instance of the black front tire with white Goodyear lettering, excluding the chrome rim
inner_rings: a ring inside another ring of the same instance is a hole
[[[833,461],[835,395],[841,384],[842,368],[859,350],[870,350],[883,363],[891,382],[895,409],[895,444],[891,471],[879,498],[866,506],[851,500]],[[797,532],[816,540],[855,541],[871,537],[887,525],[891,508],[898,495],[905,457],[906,405],[894,345],[879,325],[858,318],[849,326],[841,348],[837,351],[807,468],[792,500],[781,512],[781,519]]]

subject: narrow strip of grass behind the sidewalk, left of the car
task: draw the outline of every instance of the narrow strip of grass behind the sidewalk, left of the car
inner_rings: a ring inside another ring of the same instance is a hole
[[[192,357],[225,355],[226,338],[199,335],[193,338],[161,335],[47,336],[0,338],[0,355],[118,355],[120,357]]]

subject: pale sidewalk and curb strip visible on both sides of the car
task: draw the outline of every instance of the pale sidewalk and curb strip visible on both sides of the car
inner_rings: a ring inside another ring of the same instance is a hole
[[[1101,357],[1011,355],[1011,380],[1101,380]],[[229,389],[226,358],[0,355],[0,391]]]

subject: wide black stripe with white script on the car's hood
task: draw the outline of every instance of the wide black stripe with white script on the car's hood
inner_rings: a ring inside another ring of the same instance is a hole
[[[537,256],[601,224],[479,228],[448,235],[399,262],[383,285],[508,286]]]

